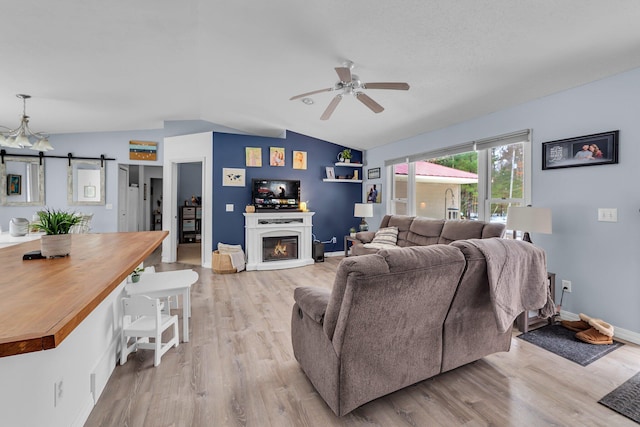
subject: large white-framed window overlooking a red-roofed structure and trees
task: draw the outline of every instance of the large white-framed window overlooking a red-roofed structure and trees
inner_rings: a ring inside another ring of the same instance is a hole
[[[530,145],[525,130],[390,160],[389,212],[506,223],[530,200]]]

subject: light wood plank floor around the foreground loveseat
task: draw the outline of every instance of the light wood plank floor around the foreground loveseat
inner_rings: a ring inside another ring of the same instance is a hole
[[[625,345],[587,367],[514,338],[511,351],[423,381],[338,418],[291,349],[293,290],[330,288],[341,258],[218,275],[195,268],[191,341],[153,367],[116,367],[87,426],[636,426],[597,401],[640,371]]]

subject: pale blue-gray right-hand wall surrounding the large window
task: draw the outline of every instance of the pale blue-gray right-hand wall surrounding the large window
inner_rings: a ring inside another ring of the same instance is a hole
[[[557,289],[571,280],[563,310],[603,318],[640,333],[640,69],[622,73],[456,126],[367,151],[367,167],[384,160],[520,129],[533,129],[533,206],[549,207],[553,234],[534,234],[547,253]],[[542,143],[620,130],[617,165],[542,170]],[[598,208],[618,222],[598,222]],[[379,222],[386,206],[376,207]],[[560,291],[557,292],[560,297]]]

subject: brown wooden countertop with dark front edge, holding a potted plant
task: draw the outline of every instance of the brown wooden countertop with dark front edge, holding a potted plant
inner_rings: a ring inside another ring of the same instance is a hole
[[[168,234],[72,234],[54,259],[22,260],[39,240],[0,249],[0,357],[60,345]]]

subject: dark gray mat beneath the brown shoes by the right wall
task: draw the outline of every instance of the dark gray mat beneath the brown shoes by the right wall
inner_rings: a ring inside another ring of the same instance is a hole
[[[560,325],[547,325],[526,334],[518,335],[518,338],[582,366],[587,366],[624,345],[617,341],[608,345],[588,344],[576,339],[575,334],[575,332]]]

